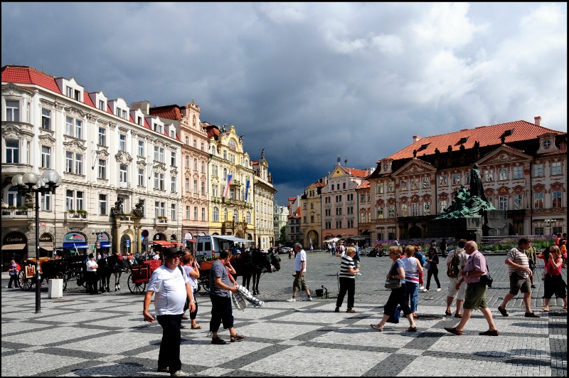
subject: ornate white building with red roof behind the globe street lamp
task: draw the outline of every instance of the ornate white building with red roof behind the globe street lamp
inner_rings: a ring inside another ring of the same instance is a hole
[[[140,105],[87,92],[75,78],[2,68],[3,266],[36,256],[33,199],[11,178],[46,169],[61,184],[41,195],[40,256],[58,247],[127,253],[179,243],[179,127]]]

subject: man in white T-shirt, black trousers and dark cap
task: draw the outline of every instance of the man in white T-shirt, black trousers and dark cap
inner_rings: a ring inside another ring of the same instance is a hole
[[[183,269],[179,268],[180,254],[181,252],[174,247],[167,248],[162,253],[164,264],[152,273],[147,293],[144,296],[142,315],[144,321],[158,320],[162,327],[157,371],[169,372],[173,377],[188,377],[188,373],[181,371],[180,325],[186,298],[190,300],[190,311],[195,310],[196,305],[188,276]],[[156,298],[154,298],[156,319],[148,312],[154,293],[156,293]]]

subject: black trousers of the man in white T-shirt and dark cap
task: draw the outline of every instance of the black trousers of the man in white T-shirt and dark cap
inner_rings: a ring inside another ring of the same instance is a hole
[[[170,374],[177,372],[182,367],[180,361],[180,325],[182,314],[180,315],[158,315],[156,320],[162,326],[162,342],[158,355],[158,367],[169,367]]]

